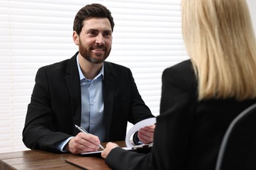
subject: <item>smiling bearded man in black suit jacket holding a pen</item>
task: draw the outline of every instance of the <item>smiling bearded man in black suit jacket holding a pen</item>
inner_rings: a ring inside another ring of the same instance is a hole
[[[136,124],[154,117],[142,101],[131,70],[105,61],[113,29],[111,12],[103,5],[86,5],[77,12],[73,40],[79,52],[37,71],[22,133],[28,148],[92,152],[100,142],[123,141],[127,121]],[[79,133],[75,125],[89,134]],[[140,129],[134,139],[152,143],[154,128]]]

